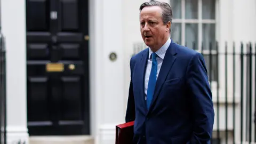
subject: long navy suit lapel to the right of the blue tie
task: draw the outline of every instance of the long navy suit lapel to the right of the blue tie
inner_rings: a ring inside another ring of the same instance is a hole
[[[175,47],[173,46],[173,42],[171,42],[170,46],[168,47],[165,56],[164,56],[164,60],[161,66],[161,69],[159,71],[158,74],[158,78],[156,81],[156,87],[155,87],[155,92],[153,95],[153,100],[151,102],[151,106],[154,105],[154,102],[156,101],[159,92],[161,91],[161,88],[165,82],[166,76],[169,74],[170,69],[173,66],[174,61],[176,60],[175,54],[176,54],[176,50]],[[152,109],[152,107],[150,106],[149,111]],[[148,112],[149,112],[148,111]]]

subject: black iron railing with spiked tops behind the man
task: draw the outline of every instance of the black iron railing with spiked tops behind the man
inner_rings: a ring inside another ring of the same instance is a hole
[[[202,43],[212,89],[215,120],[212,143],[256,142],[256,43]],[[134,54],[145,49],[133,45]]]

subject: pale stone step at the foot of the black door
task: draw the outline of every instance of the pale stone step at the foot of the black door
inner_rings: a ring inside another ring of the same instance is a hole
[[[29,144],[93,144],[90,135],[82,136],[31,136]]]

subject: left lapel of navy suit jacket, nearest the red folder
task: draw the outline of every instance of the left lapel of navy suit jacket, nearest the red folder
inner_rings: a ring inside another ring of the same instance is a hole
[[[149,51],[146,51],[142,55],[142,58],[141,58],[140,62],[137,65],[138,71],[140,71],[139,72],[139,77],[138,77],[138,79],[140,79],[139,80],[139,82],[140,82],[139,85],[141,86],[140,95],[141,95],[141,100],[142,100],[142,103],[143,103],[143,107],[146,110],[147,110],[147,103],[146,103],[146,100],[145,100],[144,90],[145,90],[145,72],[146,72],[146,66],[147,66],[147,62],[148,62],[148,53],[149,53]]]

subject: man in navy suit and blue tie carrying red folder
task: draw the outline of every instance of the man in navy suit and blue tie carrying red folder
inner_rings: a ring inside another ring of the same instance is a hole
[[[170,39],[172,9],[164,2],[140,6],[140,30],[149,47],[130,61],[126,122],[134,143],[210,143],[214,110],[202,55]]]

